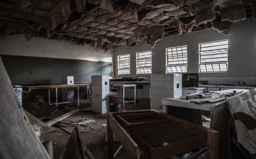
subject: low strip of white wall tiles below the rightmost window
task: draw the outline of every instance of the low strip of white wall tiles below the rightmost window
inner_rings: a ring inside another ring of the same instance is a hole
[[[208,84],[223,85],[231,84],[235,86],[254,86],[256,84],[256,76],[218,76],[218,77],[199,77],[200,81],[208,81]],[[240,82],[240,84],[238,84]],[[245,82],[245,85],[243,84]]]

